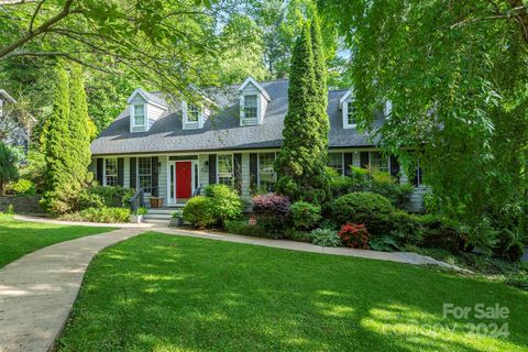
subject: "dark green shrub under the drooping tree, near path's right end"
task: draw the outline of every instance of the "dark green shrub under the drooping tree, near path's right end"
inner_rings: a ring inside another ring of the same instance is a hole
[[[422,239],[421,244],[426,248],[439,248],[459,252],[461,243],[464,242],[464,231],[457,221],[446,218],[427,215],[421,217]]]

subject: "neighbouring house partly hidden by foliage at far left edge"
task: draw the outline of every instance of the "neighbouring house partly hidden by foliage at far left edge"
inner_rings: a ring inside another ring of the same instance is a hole
[[[0,89],[0,141],[6,144],[20,146],[28,151],[30,144],[30,131],[36,120],[29,116],[31,125],[24,123],[15,113],[16,100],[6,90]]]

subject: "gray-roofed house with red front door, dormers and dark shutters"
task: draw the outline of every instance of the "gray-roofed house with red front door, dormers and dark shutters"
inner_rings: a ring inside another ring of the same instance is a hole
[[[273,189],[273,161],[283,141],[288,111],[288,80],[209,90],[200,103],[167,103],[160,94],[136,89],[127,109],[91,144],[92,169],[101,185],[142,188],[146,197],[163,197],[165,206],[185,204],[199,187],[234,185],[249,197]],[[328,96],[329,166],[342,175],[349,165],[371,165],[407,177],[396,157],[386,157],[356,129],[350,108],[351,89]],[[383,123],[380,113],[374,128]],[[417,178],[418,179],[418,178]],[[417,185],[415,207],[420,207]]]

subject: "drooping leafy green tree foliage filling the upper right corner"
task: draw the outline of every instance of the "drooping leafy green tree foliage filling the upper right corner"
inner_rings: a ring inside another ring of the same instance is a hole
[[[476,220],[526,195],[521,1],[322,0],[321,8],[352,52],[358,120],[366,129],[392,102],[376,134],[407,165],[420,158],[431,206]]]

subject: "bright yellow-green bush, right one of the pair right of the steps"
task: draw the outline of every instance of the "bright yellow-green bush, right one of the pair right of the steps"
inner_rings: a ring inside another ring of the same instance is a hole
[[[206,188],[206,197],[211,199],[212,212],[218,224],[240,218],[244,210],[239,195],[229,186],[210,185]]]

